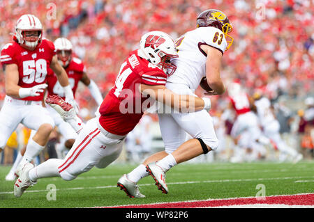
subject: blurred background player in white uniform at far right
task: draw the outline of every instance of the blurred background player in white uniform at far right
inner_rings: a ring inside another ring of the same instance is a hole
[[[267,97],[262,96],[260,93],[255,93],[253,95],[255,100],[255,106],[257,108],[257,116],[260,121],[260,125],[262,125],[264,135],[267,138],[271,139],[278,148],[278,150],[283,154],[284,157],[290,156],[292,157],[292,162],[297,163],[301,159],[303,159],[302,154],[297,152],[291,148],[283,138],[281,138],[281,134],[279,133],[280,125],[278,120],[276,120],[273,110],[271,109],[271,102]]]

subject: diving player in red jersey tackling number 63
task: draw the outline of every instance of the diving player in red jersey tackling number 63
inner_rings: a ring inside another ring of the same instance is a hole
[[[170,58],[176,56],[176,45],[166,33],[152,31],[143,35],[140,49],[132,51],[122,63],[114,87],[100,105],[99,115],[80,130],[66,158],[48,159],[35,168],[26,164],[15,182],[15,196],[22,196],[25,189],[39,178],[59,176],[63,180],[73,180],[94,166],[105,168],[111,164],[119,157],[128,132],[137,125],[144,110],[154,100],[179,111],[184,108],[186,111],[209,109],[209,98],[177,95],[165,88],[167,75],[171,75],[176,68],[170,63]],[[46,102],[64,120],[75,118],[73,107],[61,98],[48,97]]]

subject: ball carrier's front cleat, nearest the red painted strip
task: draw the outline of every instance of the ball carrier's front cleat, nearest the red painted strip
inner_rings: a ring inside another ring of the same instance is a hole
[[[156,164],[156,162],[148,164],[146,166],[146,171],[151,175],[160,191],[163,191],[163,193],[168,193],[168,187],[165,183],[165,171]]]

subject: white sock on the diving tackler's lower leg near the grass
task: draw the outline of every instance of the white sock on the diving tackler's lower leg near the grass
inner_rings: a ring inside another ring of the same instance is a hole
[[[48,159],[29,171],[29,179],[36,181],[45,177],[60,177],[58,167],[62,164],[63,159]]]

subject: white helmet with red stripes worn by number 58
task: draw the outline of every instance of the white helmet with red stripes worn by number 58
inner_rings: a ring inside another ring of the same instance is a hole
[[[38,38],[27,40],[25,31],[38,31]],[[15,24],[15,38],[17,42],[24,48],[33,50],[41,43],[43,38],[43,26],[35,15],[22,15]]]

